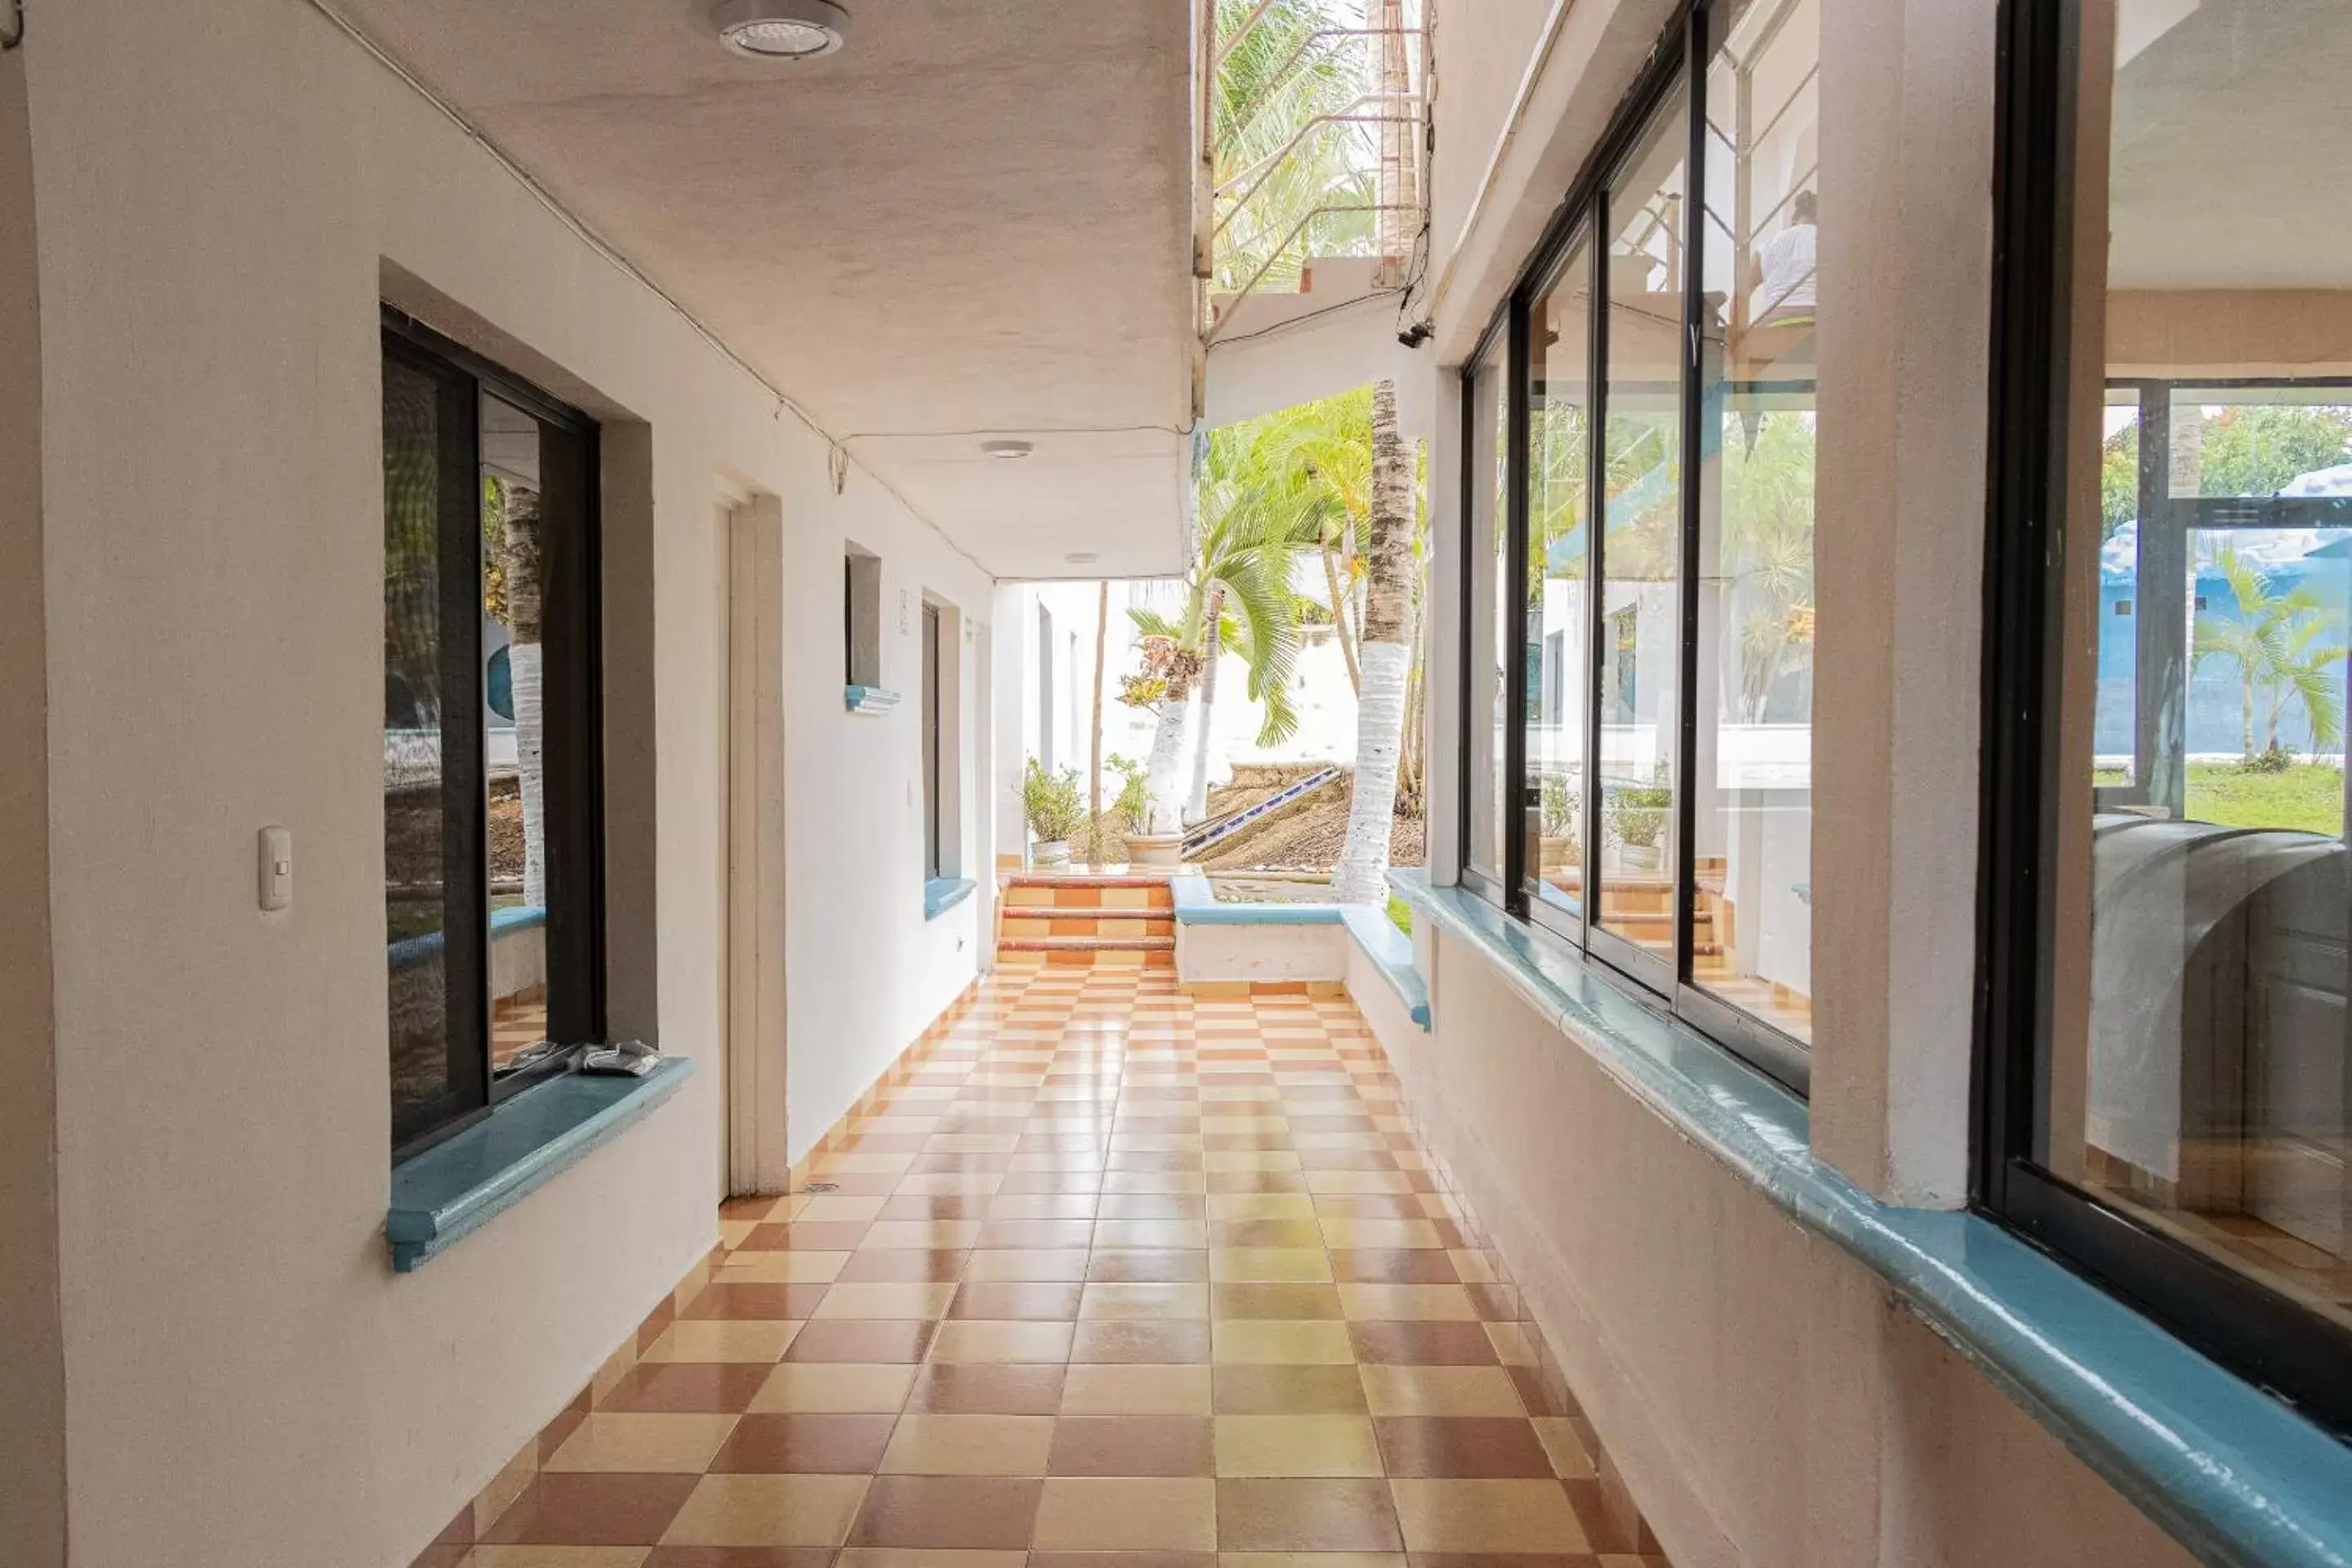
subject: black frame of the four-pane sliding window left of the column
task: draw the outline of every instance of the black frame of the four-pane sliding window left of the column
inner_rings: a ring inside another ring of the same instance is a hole
[[[1475,595],[1489,590],[1482,581],[1484,571],[1491,571],[1486,562],[1489,541],[1477,538],[1470,527],[1472,520],[1472,496],[1477,484],[1477,470],[1489,461],[1489,454],[1477,449],[1477,369],[1482,360],[1494,350],[1496,341],[1505,343],[1503,360],[1503,386],[1510,388],[1508,407],[1508,435],[1505,435],[1505,491],[1496,496],[1496,505],[1503,508],[1508,529],[1508,569],[1510,569],[1510,592],[1501,595],[1496,614],[1508,616],[1501,644],[1505,649],[1505,736],[1503,757],[1498,766],[1508,780],[1503,792],[1505,823],[1503,823],[1503,867],[1501,889],[1491,886],[1486,877],[1463,875],[1463,884],[1477,896],[1496,903],[1505,914],[1522,919],[1541,929],[1548,938],[1559,940],[1578,952],[1588,961],[1595,961],[1623,978],[1625,983],[1639,987],[1656,1006],[1665,1009],[1682,1023],[1691,1025],[1700,1034],[1708,1034],[1726,1051],[1757,1067],[1766,1077],[1780,1081],[1790,1091],[1804,1095],[1811,1081],[1811,1048],[1773,1027],[1771,1023],[1743,1013],[1729,1001],[1705,992],[1691,980],[1691,929],[1696,917],[1696,877],[1693,856],[1677,856],[1675,872],[1675,943],[1672,957],[1646,950],[1637,943],[1625,940],[1611,931],[1602,931],[1599,922],[1592,919],[1592,903],[1599,889],[1599,820],[1602,820],[1602,790],[1599,790],[1599,719],[1602,703],[1599,675],[1602,675],[1602,637],[1606,625],[1597,614],[1604,602],[1602,595],[1606,585],[1602,581],[1602,534],[1604,534],[1604,487],[1606,487],[1606,440],[1609,440],[1609,388],[1606,388],[1606,364],[1609,364],[1609,221],[1606,200],[1609,183],[1616,174],[1642,150],[1644,136],[1656,125],[1656,118],[1670,110],[1675,94],[1682,94],[1686,113],[1686,136],[1684,148],[1684,200],[1693,214],[1705,212],[1705,186],[1708,186],[1708,66],[1715,26],[1719,14],[1726,9],[1729,0],[1679,0],[1675,16],[1665,24],[1658,42],[1651,47],[1649,61],[1635,78],[1635,85],[1618,101],[1609,129],[1602,132],[1599,143],[1592,148],[1583,169],[1569,183],[1569,190],[1559,207],[1545,223],[1543,237],[1522,261],[1510,292],[1494,313],[1494,320],[1479,334],[1477,346],[1461,369],[1461,520],[1463,520],[1463,670],[1461,670],[1461,755],[1458,755],[1458,778],[1461,799],[1458,804],[1458,844],[1463,846],[1463,863],[1468,867],[1470,851],[1470,802],[1472,792],[1482,788],[1482,780],[1472,773],[1470,762],[1470,726],[1484,724],[1484,715],[1470,712],[1472,698],[1472,661],[1484,656],[1484,649],[1472,642],[1475,625]],[[1526,816],[1531,809],[1529,778],[1526,778],[1526,531],[1529,531],[1529,317],[1536,301],[1559,275],[1562,263],[1569,259],[1571,249],[1581,237],[1592,242],[1592,322],[1588,336],[1590,374],[1588,388],[1592,397],[1590,407],[1590,440],[1592,454],[1588,458],[1588,475],[1592,484],[1592,508],[1588,527],[1588,569],[1585,569],[1585,628],[1590,635],[1585,677],[1585,832],[1583,832],[1583,898],[1581,914],[1566,917],[1564,912],[1552,912],[1541,907],[1541,900],[1531,900],[1526,893]],[[1684,247],[1682,256],[1684,280],[1682,280],[1682,362],[1677,374],[1682,378],[1682,451],[1684,451],[1684,475],[1696,470],[1696,454],[1703,447],[1703,322],[1705,310],[1705,244],[1698,226],[1693,223],[1691,242]],[[1698,531],[1700,531],[1700,489],[1698,484],[1684,482],[1679,496],[1679,564],[1677,564],[1677,592],[1679,592],[1679,668],[1677,679],[1677,715],[1675,715],[1675,823],[1677,842],[1689,846],[1693,842],[1693,813],[1696,792],[1689,788],[1693,759],[1698,755]]]

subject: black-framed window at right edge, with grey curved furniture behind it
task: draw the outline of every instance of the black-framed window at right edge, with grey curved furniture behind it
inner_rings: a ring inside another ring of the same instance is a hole
[[[2352,12],[2004,28],[1980,1201],[2352,1434]]]

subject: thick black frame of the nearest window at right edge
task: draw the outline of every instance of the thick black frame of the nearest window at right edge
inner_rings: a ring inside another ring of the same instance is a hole
[[[1973,1208],[2338,1436],[2352,1333],[2034,1159],[2056,933],[2077,0],[2004,0],[1994,134]],[[2183,386],[2218,386],[2194,381]],[[2143,404],[2145,418],[2145,404]],[[2145,428],[2145,425],[2143,425]],[[2147,449],[2143,447],[2143,461]],[[2185,592],[2185,588],[2183,588]],[[2150,616],[2136,611],[2136,621]],[[2145,665],[2143,665],[2145,675]],[[2143,788],[2147,780],[2136,780]]]

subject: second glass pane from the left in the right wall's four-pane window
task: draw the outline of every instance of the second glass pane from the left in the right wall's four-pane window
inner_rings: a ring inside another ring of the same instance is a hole
[[[1526,896],[1583,919],[1592,670],[1592,247],[1536,299],[1526,343]]]

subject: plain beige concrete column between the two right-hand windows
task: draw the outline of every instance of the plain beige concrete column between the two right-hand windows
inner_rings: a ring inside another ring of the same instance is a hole
[[[1820,5],[1813,1150],[1969,1190],[1997,0]]]

